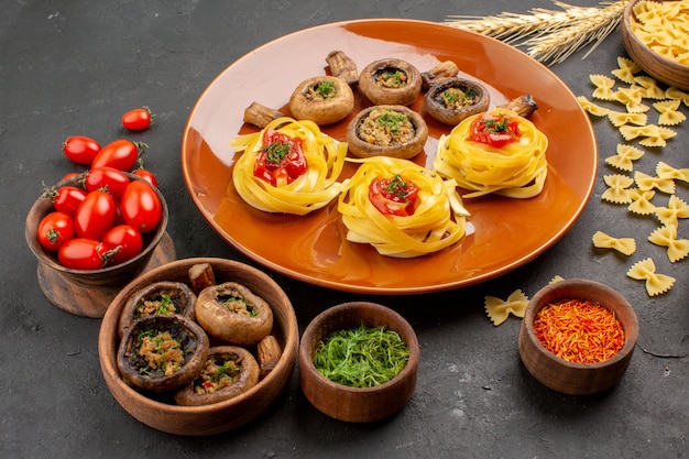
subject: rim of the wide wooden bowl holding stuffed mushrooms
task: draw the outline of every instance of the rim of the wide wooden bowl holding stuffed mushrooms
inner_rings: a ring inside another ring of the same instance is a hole
[[[135,293],[141,287],[141,285],[139,284],[144,278],[149,276],[155,277],[165,271],[174,270],[178,266],[190,267],[192,265],[197,264],[197,263],[210,263],[210,265],[214,267],[218,264],[223,264],[226,266],[233,267],[233,269],[247,270],[251,274],[258,276],[262,282],[265,282],[270,284],[273,288],[275,288],[275,292],[278,293],[278,296],[281,296],[285,306],[288,306],[286,308],[287,314],[285,314],[287,321],[284,324],[285,346],[283,347],[283,354],[280,358],[275,368],[263,380],[259,381],[259,383],[254,385],[253,387],[251,387],[249,391],[243,392],[237,395],[236,397],[232,397],[222,402],[218,402],[211,405],[181,406],[181,405],[163,403],[163,402],[158,402],[156,400],[150,398],[139,393],[133,387],[129,386],[122,380],[122,376],[120,375],[117,369],[117,362],[116,362],[117,349],[114,347],[110,349],[110,345],[116,343],[117,340],[119,339],[119,336],[117,332],[117,321],[119,319],[118,314],[123,307],[125,298],[132,293]],[[118,304],[120,305],[120,307],[113,307],[113,306],[117,306]],[[135,400],[136,403],[146,405],[147,407],[151,407],[151,408],[162,409],[167,413],[175,414],[175,415],[178,414],[182,416],[194,415],[194,414],[211,414],[216,412],[221,412],[223,409],[227,409],[228,407],[231,407],[234,404],[239,404],[245,401],[247,398],[251,398],[255,396],[264,386],[270,385],[273,382],[273,380],[278,379],[280,373],[284,371],[294,371],[294,367],[292,368],[292,370],[289,370],[289,369],[286,369],[286,365],[288,365],[288,362],[292,360],[291,356],[294,354],[294,357],[296,357],[297,349],[298,349],[298,336],[299,336],[299,332],[298,332],[296,313],[294,310],[294,307],[292,306],[292,302],[289,300],[289,298],[287,297],[287,294],[283,291],[283,288],[275,281],[273,281],[273,278],[271,278],[267,274],[258,270],[256,267],[253,267],[249,264],[234,261],[234,260],[227,260],[227,259],[220,259],[220,258],[189,258],[189,259],[175,260],[173,262],[157,266],[149,271],[147,273],[138,276],[131,283],[124,286],[122,291],[120,291],[120,293],[112,299],[111,307],[108,308],[102,319],[101,328],[98,335],[98,356],[100,358],[102,372],[108,373],[111,376],[114,376],[112,378],[114,384],[117,384],[118,387],[122,390],[123,393],[128,397],[130,397],[131,400]]]

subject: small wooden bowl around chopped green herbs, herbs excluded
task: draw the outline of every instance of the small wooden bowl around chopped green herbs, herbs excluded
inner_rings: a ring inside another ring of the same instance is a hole
[[[409,348],[409,360],[393,380],[375,387],[349,387],[321,375],[314,354],[321,341],[342,329],[380,327],[396,331]],[[419,349],[412,326],[394,310],[367,302],[343,303],[319,314],[308,325],[299,346],[299,380],[306,398],[321,413],[350,423],[382,419],[400,411],[416,387]]]

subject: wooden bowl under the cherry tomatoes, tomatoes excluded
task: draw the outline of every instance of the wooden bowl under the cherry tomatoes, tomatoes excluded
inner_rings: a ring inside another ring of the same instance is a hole
[[[142,178],[127,174],[131,181]],[[79,177],[62,181],[51,188],[62,186],[77,186]],[[100,318],[105,315],[110,302],[129,281],[134,278],[144,269],[152,267],[176,258],[175,248],[169,236],[165,232],[169,218],[167,204],[163,194],[155,188],[163,209],[161,221],[155,230],[143,233],[143,250],[133,259],[100,270],[73,270],[63,266],[57,254],[45,250],[39,242],[36,228],[41,219],[54,210],[51,198],[40,196],[26,215],[24,237],[29,249],[39,260],[37,277],[41,289],[53,305],[78,316]],[[158,247],[160,245],[160,247]]]

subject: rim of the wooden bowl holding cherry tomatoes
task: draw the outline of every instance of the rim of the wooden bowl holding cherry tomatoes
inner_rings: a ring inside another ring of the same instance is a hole
[[[81,179],[84,174],[86,173],[79,174],[76,177],[69,177],[69,178],[59,181],[56,184],[52,185],[50,189],[57,189],[63,186],[80,187],[79,179]],[[124,174],[129,177],[130,181],[141,181],[141,182],[149,183],[144,178],[139,177],[129,172],[124,172]],[[70,267],[63,266],[54,258],[48,256],[47,251],[43,249],[43,247],[41,247],[41,243],[39,242],[39,239],[36,237],[36,228],[33,228],[33,225],[31,225],[30,222],[32,217],[35,217],[40,212],[41,207],[45,206],[46,203],[50,201],[50,198],[46,198],[43,195],[39,196],[39,198],[33,203],[33,205],[29,209],[29,212],[26,214],[26,219],[24,221],[24,237],[26,239],[26,243],[29,244],[29,249],[31,249],[31,251],[33,252],[33,254],[40,262],[46,264],[47,266],[50,266],[51,269],[55,271],[67,273],[70,275],[94,275],[94,274],[100,275],[102,274],[105,276],[113,272],[125,271],[130,269],[131,266],[136,265],[138,263],[142,262],[143,260],[147,260],[151,253],[153,253],[153,251],[157,247],[158,242],[161,242],[161,239],[163,238],[163,236],[165,234],[165,231],[167,229],[167,222],[169,220],[169,209],[167,207],[167,201],[165,200],[163,193],[161,193],[161,190],[156,186],[151,185],[151,187],[153,188],[158,199],[161,200],[161,206],[162,206],[161,221],[158,222],[155,229],[155,232],[153,234],[153,238],[151,239],[149,244],[145,245],[143,250],[141,251],[141,253],[134,256],[133,259],[130,259],[123,263],[114,264],[112,266],[101,267],[99,270],[74,270]],[[43,216],[39,216],[37,220],[41,221],[42,218]],[[142,234],[142,236],[144,237],[144,241],[145,241],[146,236],[145,234]]]

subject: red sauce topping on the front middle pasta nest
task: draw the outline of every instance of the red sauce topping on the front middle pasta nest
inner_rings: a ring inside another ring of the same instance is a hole
[[[369,185],[369,200],[381,214],[408,217],[414,214],[418,187],[400,175],[375,178]]]

